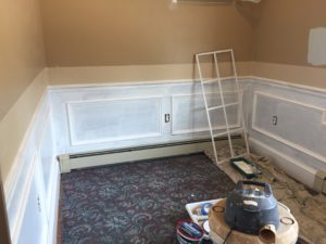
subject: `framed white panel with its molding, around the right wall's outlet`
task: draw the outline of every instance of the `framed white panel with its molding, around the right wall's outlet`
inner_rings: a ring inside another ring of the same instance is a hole
[[[255,92],[252,128],[326,163],[325,112],[326,107]]]

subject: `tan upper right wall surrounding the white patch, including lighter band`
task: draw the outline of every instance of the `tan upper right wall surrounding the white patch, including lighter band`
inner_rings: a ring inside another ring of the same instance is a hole
[[[252,75],[326,88],[326,66],[308,64],[309,33],[326,26],[325,0],[262,0]]]

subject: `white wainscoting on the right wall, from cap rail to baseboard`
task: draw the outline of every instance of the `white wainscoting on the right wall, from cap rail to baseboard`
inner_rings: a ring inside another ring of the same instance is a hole
[[[313,188],[316,171],[326,170],[326,92],[264,79],[249,84],[244,108],[252,147]]]

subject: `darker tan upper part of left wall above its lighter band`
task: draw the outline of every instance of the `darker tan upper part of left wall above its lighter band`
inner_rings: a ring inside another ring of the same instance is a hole
[[[38,0],[1,0],[0,120],[45,67]]]

